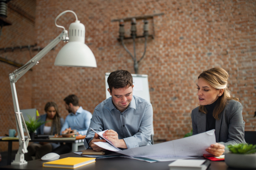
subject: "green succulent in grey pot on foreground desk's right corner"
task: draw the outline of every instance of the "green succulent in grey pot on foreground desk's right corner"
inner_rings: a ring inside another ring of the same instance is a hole
[[[234,144],[226,147],[230,153],[225,153],[225,162],[229,167],[252,169],[256,168],[256,145]]]

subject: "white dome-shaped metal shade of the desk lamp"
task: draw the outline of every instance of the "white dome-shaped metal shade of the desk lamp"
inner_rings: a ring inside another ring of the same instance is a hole
[[[55,66],[97,67],[96,59],[90,48],[84,43],[84,24],[76,20],[69,27],[69,43],[59,51]]]

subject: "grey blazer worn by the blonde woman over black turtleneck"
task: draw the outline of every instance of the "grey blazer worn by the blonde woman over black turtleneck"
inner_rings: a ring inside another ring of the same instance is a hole
[[[206,114],[198,111],[199,107],[192,110],[193,135],[206,131]],[[243,107],[235,100],[227,101],[224,110],[215,121],[216,142],[224,146],[229,144],[246,143],[244,141],[244,124],[242,116]]]

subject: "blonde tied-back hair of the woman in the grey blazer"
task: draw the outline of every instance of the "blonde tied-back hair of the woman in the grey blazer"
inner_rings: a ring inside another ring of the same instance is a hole
[[[212,69],[208,69],[207,71],[202,72],[198,79],[202,78],[204,81],[206,81],[208,84],[210,84],[215,89],[224,89],[224,92],[221,96],[219,96],[217,104],[213,110],[213,117],[215,119],[219,119],[218,115],[224,110],[227,101],[235,100],[239,101],[238,98],[232,98],[231,92],[229,89],[227,89],[228,86],[228,73],[226,70],[214,67]],[[200,105],[199,106],[199,112],[203,112],[207,114],[207,109],[205,106]]]

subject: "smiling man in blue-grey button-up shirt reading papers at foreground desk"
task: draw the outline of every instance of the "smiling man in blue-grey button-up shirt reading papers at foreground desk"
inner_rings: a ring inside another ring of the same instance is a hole
[[[131,73],[125,70],[111,72],[108,86],[111,97],[94,109],[90,128],[96,132],[107,130],[103,136],[119,148],[151,145],[152,105],[132,95],[134,85]],[[84,140],[86,149],[102,150],[93,143],[98,141],[105,142],[88,129]]]

